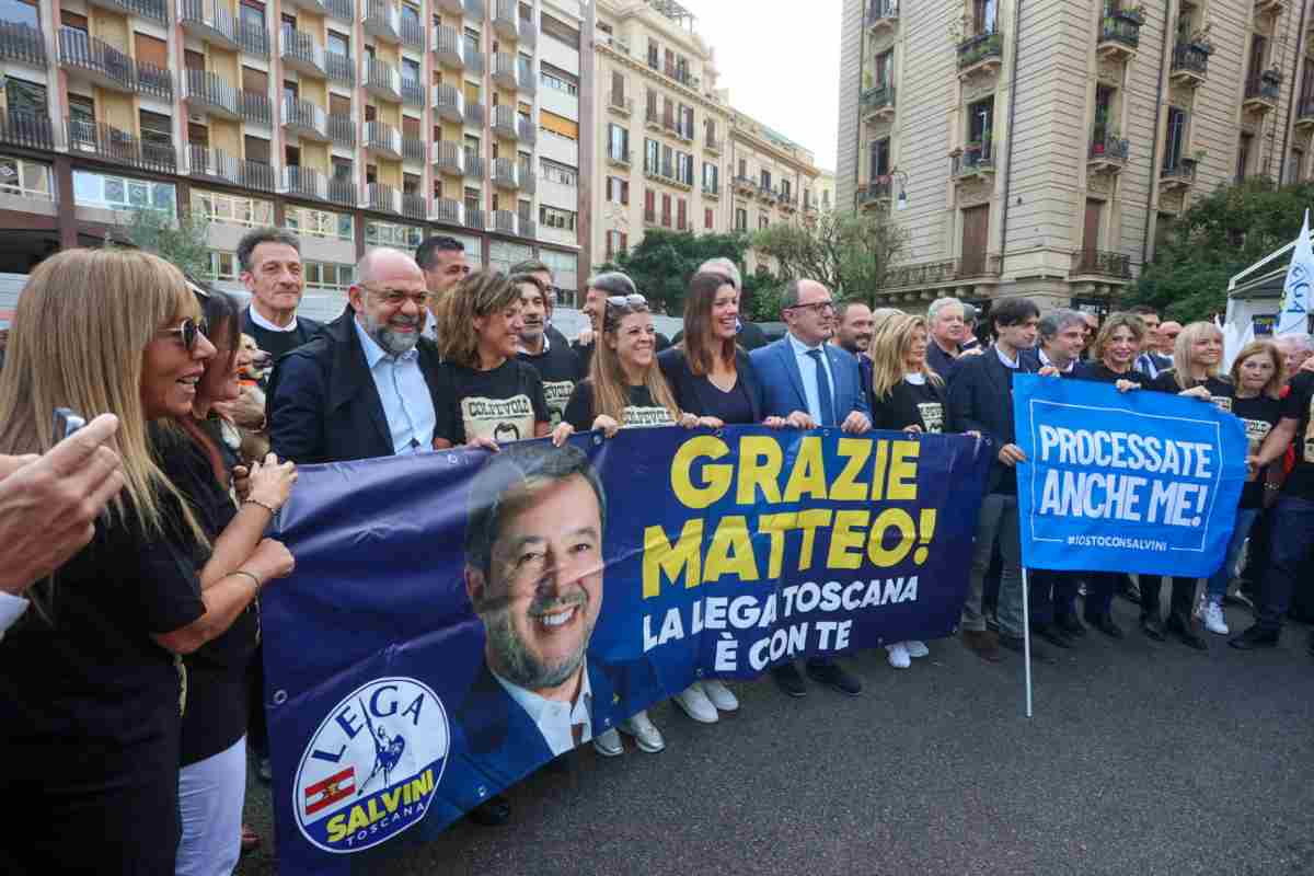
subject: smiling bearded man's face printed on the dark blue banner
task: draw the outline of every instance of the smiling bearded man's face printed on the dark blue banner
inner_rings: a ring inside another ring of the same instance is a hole
[[[490,667],[547,696],[573,682],[602,609],[602,511],[579,474],[532,479],[502,498],[487,574],[465,586]]]

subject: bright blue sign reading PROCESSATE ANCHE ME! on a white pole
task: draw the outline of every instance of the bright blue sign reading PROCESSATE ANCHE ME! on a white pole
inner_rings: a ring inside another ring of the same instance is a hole
[[[1208,578],[1246,481],[1246,431],[1209,402],[1108,383],[1013,381],[1022,562]]]

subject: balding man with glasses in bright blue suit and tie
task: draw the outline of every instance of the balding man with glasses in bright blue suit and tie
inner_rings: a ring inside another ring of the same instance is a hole
[[[749,353],[766,397],[766,416],[783,416],[795,428],[836,427],[862,435],[871,429],[867,395],[862,390],[858,360],[825,343],[834,334],[834,301],[815,280],[791,280],[781,293],[784,338]],[[813,657],[808,676],[857,696],[862,682],[829,658]],[[807,687],[792,662],[771,670],[775,683],[790,696]]]

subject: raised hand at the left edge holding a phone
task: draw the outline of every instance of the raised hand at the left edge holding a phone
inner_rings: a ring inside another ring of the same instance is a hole
[[[45,456],[0,456],[0,590],[21,594],[96,535],[124,489],[117,431],[118,418],[102,414]]]

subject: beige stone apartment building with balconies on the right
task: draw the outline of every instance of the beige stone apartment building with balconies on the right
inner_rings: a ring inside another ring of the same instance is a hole
[[[845,0],[837,204],[908,232],[883,303],[1102,310],[1192,201],[1310,173],[1307,0]]]

